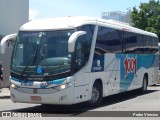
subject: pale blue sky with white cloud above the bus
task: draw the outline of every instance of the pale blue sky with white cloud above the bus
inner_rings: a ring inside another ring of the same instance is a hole
[[[149,0],[29,0],[30,20],[65,17],[65,16],[91,16],[101,18],[102,12],[127,12],[140,3]]]

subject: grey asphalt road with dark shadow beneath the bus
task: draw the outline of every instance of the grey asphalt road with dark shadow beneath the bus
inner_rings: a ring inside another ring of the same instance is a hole
[[[68,119],[70,117],[116,117],[121,119],[122,117],[144,118],[146,115],[160,117],[160,85],[148,87],[146,94],[132,91],[106,97],[97,108],[88,108],[84,103],[72,106],[13,103],[9,98],[4,98],[0,99],[0,116],[2,112],[20,113],[18,115],[22,116],[26,114],[33,116],[32,113],[40,113],[35,115],[42,115],[48,119],[51,119],[50,117],[67,117]]]

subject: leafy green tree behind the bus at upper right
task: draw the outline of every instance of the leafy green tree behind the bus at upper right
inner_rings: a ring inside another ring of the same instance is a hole
[[[150,0],[149,3],[141,3],[139,10],[133,7],[130,14],[134,27],[153,32],[160,40],[160,1]]]

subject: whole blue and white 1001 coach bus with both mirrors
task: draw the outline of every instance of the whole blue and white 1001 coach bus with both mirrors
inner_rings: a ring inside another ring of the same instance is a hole
[[[158,37],[127,24],[92,17],[30,21],[16,37],[11,99],[38,104],[99,105],[105,96],[158,80]]]

